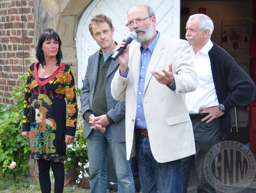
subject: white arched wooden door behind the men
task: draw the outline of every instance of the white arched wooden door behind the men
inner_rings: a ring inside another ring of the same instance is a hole
[[[180,37],[180,0],[94,0],[82,15],[76,34],[79,88],[82,87],[89,56],[100,49],[88,29],[91,18],[97,14],[110,17],[115,28],[114,41],[120,42],[130,32],[125,26],[127,12],[138,4],[149,5],[155,10],[156,30],[165,36]],[[131,46],[137,43],[133,41]]]

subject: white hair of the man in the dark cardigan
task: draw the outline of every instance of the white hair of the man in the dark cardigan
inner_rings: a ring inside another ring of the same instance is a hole
[[[209,33],[209,39],[212,36],[213,33],[213,20],[211,20],[211,18],[209,18],[207,15],[204,14],[194,14],[194,15],[190,15],[190,17],[188,18],[188,21],[192,21],[194,19],[198,19],[200,21],[200,31],[206,31],[206,30],[210,30]]]

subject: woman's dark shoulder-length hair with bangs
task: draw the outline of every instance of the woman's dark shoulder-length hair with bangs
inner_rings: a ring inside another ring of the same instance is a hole
[[[43,30],[43,32],[41,33],[41,35],[39,36],[38,42],[37,42],[37,48],[36,48],[36,56],[37,56],[37,61],[44,66],[44,55],[43,55],[43,42],[46,40],[51,40],[53,38],[53,40],[58,41],[59,42],[59,50],[58,53],[56,55],[56,59],[57,59],[57,66],[60,65],[61,59],[62,59],[62,51],[60,49],[61,46],[61,41],[59,38],[59,35],[52,29],[47,28],[45,30]]]

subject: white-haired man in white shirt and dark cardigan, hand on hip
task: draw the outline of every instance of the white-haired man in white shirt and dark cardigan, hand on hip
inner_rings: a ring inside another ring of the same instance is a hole
[[[248,105],[255,93],[251,78],[226,51],[210,40],[213,28],[213,21],[207,15],[191,15],[187,21],[186,38],[191,45],[198,85],[195,91],[186,93],[196,154],[182,159],[183,193],[187,192],[194,162],[197,193],[217,192],[204,176],[204,158],[214,145],[227,137],[231,128],[230,109]],[[215,169],[212,170],[214,173]]]

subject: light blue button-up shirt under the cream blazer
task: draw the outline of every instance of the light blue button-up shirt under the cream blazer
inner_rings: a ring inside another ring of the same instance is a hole
[[[136,111],[136,119],[135,119],[135,127],[137,128],[147,128],[144,109],[143,109],[143,91],[147,69],[149,66],[149,61],[155,49],[155,45],[160,36],[160,32],[157,32],[157,36],[155,39],[149,44],[148,47],[144,48],[140,45],[140,53],[141,53],[141,61],[140,61],[140,72],[139,72],[139,81],[138,81],[138,91],[137,91],[137,111]]]

